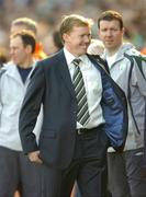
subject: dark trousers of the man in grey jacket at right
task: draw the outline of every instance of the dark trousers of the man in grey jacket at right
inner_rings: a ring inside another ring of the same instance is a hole
[[[113,197],[146,197],[143,148],[109,152],[109,186]]]

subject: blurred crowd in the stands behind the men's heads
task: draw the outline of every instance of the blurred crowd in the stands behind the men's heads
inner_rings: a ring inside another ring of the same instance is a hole
[[[146,0],[0,0],[0,56],[9,58],[11,21],[31,18],[38,23],[38,39],[47,55],[52,54],[52,34],[63,15],[78,13],[94,20],[92,36],[96,37],[97,19],[104,10],[121,12],[125,21],[125,39],[146,53]]]

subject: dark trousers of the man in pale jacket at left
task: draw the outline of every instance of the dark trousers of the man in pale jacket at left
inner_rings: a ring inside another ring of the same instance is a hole
[[[13,197],[16,189],[23,197],[42,197],[41,187],[41,165],[21,151],[0,147],[0,197]]]

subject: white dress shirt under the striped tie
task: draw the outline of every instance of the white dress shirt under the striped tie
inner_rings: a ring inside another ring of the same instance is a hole
[[[66,47],[64,47],[65,57],[67,60],[68,69],[70,72],[70,77],[72,80],[72,76],[75,72],[75,65],[72,60],[77,57],[71,55]],[[103,124],[105,120],[103,118],[102,108],[100,105],[101,95],[102,95],[102,82],[101,74],[98,69],[92,65],[87,55],[82,55],[78,57],[81,62],[79,65],[80,70],[82,72],[85,88],[88,100],[89,115],[90,119],[83,128],[94,128],[99,125]],[[82,128],[82,125],[77,123],[77,128]]]

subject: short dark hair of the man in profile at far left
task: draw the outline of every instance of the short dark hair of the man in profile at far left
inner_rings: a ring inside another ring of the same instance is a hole
[[[27,45],[32,46],[32,54],[33,54],[35,51],[35,45],[36,45],[34,34],[31,31],[22,30],[20,32],[15,32],[14,34],[12,34],[10,36],[10,39],[15,38],[18,36],[21,37],[24,46],[27,46]]]

